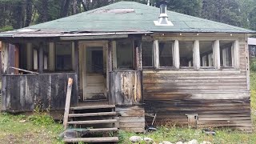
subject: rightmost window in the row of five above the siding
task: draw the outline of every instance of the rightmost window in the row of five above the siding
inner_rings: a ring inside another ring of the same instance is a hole
[[[234,66],[233,42],[220,42],[220,57],[222,67]]]

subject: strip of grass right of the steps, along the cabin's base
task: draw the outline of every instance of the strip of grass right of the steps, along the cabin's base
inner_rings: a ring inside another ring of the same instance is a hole
[[[217,134],[215,136],[206,135],[202,133],[202,130],[195,130],[189,128],[179,128],[179,127],[166,127],[160,126],[158,130],[152,133],[146,134],[135,134],[128,133],[124,131],[120,131],[118,137],[120,139],[120,143],[131,144],[129,138],[131,136],[137,135],[142,138],[148,137],[154,139],[154,142],[159,143],[162,141],[169,142],[188,142],[192,139],[198,140],[198,142],[208,141],[212,143],[218,144],[240,144],[240,143],[248,143],[254,144],[256,143],[256,134],[246,134],[242,131],[232,131],[232,130],[216,130]]]

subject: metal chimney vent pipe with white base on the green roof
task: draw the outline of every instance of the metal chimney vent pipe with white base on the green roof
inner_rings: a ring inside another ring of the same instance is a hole
[[[155,26],[174,26],[172,22],[168,20],[167,15],[167,2],[160,2],[160,16],[158,17],[158,21],[154,21]]]

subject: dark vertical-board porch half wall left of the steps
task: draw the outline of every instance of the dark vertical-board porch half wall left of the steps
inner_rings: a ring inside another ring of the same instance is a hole
[[[71,105],[76,105],[77,74],[3,75],[2,110],[64,110],[68,78],[74,79]]]

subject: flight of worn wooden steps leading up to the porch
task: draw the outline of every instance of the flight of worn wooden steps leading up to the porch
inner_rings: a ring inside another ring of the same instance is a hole
[[[82,137],[86,136],[86,138],[65,138],[64,142],[118,142],[116,114],[114,105],[88,104],[88,106],[70,107],[69,121],[67,122],[68,130],[85,134]]]

